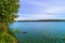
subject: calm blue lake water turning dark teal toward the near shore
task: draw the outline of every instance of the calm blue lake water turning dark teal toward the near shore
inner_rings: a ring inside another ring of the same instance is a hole
[[[21,33],[15,34],[20,43],[43,43],[43,34],[65,37],[65,22],[15,22],[11,27],[21,29]]]

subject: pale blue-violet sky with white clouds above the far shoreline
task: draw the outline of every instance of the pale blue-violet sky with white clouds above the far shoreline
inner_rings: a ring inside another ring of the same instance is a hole
[[[65,0],[20,0],[16,19],[65,19]]]

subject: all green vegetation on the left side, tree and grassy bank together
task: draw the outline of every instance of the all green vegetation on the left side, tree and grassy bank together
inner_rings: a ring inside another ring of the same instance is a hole
[[[18,0],[0,0],[0,43],[17,43],[10,25],[17,17]]]

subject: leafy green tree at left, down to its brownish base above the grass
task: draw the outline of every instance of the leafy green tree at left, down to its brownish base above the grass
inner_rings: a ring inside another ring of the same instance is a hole
[[[0,0],[0,32],[9,32],[9,25],[17,17],[18,0]]]

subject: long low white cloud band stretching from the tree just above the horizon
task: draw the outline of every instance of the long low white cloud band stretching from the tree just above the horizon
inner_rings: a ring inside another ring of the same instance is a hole
[[[24,17],[22,17],[24,16]],[[61,15],[43,15],[43,14],[31,14],[31,15],[26,15],[22,14],[18,18],[15,18],[15,20],[26,20],[26,19],[50,19],[50,18],[55,18],[60,17]]]

